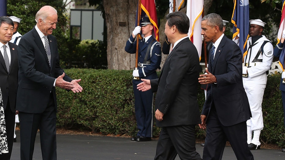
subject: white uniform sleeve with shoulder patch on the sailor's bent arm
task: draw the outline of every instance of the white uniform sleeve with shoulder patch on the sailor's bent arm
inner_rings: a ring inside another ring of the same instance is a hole
[[[263,74],[271,68],[273,61],[273,46],[271,43],[266,43],[263,48],[262,63],[260,65],[247,68],[250,77],[255,77]]]

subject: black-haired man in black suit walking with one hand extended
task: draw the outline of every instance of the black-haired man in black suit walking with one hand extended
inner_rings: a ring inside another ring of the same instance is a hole
[[[137,89],[156,92],[156,125],[161,128],[155,159],[201,160],[195,147],[195,126],[201,123],[197,103],[200,65],[196,47],[187,35],[189,18],[185,13],[166,16],[164,33],[173,50],[158,79],[142,79]],[[195,80],[196,79],[196,80]]]

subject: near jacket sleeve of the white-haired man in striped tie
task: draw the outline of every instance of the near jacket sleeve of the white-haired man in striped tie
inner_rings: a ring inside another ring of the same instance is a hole
[[[52,88],[55,78],[48,76],[48,73],[45,74],[36,70],[35,53],[33,48],[35,45],[36,44],[32,44],[28,39],[24,37],[21,38],[21,43],[19,43],[18,46],[19,66],[21,66],[27,79]]]

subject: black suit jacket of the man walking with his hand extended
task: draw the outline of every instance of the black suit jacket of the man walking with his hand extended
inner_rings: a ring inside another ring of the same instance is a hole
[[[201,123],[197,103],[199,56],[189,40],[179,42],[167,57],[158,79],[151,80],[156,93],[155,110],[164,113],[159,127]]]

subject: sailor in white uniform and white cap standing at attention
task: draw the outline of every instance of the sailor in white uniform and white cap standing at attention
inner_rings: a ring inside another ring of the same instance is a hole
[[[266,72],[273,60],[272,43],[262,35],[264,23],[260,19],[249,20],[247,54],[242,68],[243,86],[249,100],[252,117],[247,120],[247,143],[250,150],[260,149],[259,136],[263,129],[261,104],[267,82]]]

